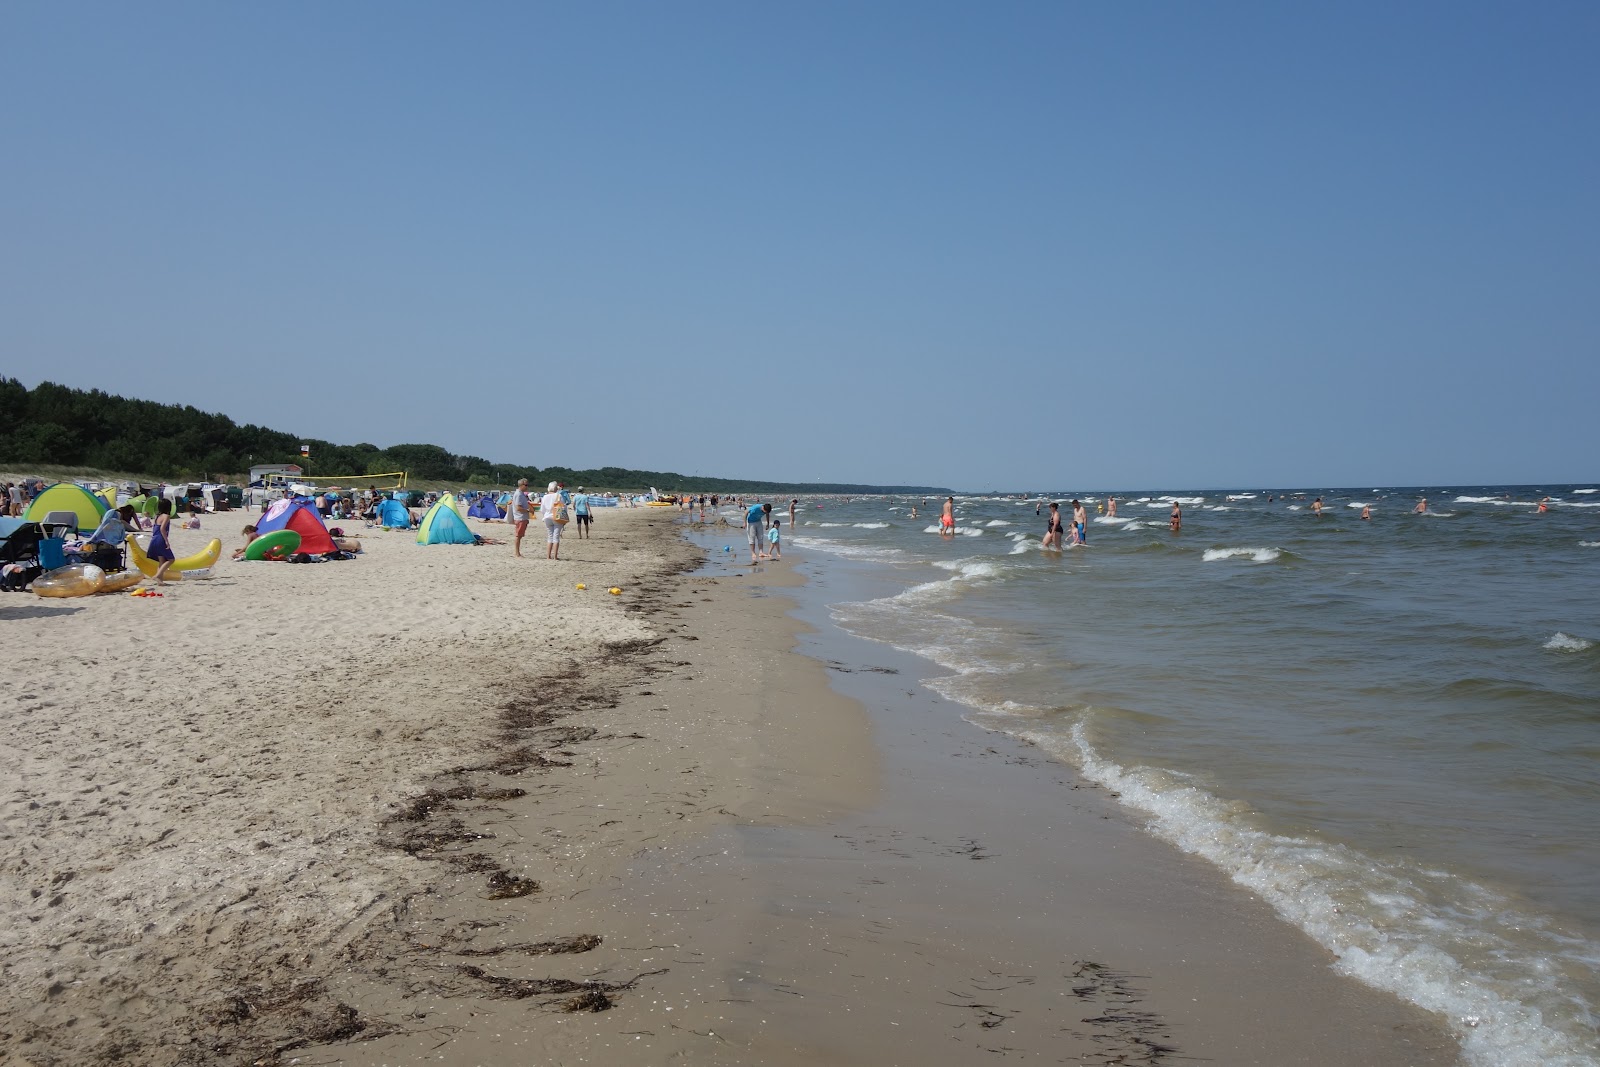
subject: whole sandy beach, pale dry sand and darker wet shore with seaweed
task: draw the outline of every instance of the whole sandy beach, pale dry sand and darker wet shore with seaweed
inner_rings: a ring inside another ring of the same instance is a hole
[[[11,1062],[1454,1062],[677,518],[0,600]]]

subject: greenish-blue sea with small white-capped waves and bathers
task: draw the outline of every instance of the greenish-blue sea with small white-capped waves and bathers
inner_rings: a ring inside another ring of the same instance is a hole
[[[874,590],[840,627],[1442,1013],[1467,1062],[1594,1067],[1597,488],[960,496],[954,536],[938,498],[776,514],[803,569]],[[1074,496],[1086,544],[1043,550]]]

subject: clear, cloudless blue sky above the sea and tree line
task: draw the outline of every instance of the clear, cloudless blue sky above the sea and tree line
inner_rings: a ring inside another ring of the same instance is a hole
[[[1600,5],[0,5],[0,374],[496,462],[1600,477]]]

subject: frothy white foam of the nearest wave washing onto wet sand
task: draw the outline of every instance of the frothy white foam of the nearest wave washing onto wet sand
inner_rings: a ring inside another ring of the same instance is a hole
[[[1344,845],[1269,833],[1190,779],[1101,757],[1083,723],[1070,742],[1019,731],[1077,763],[1149,830],[1213,862],[1336,957],[1336,969],[1446,1016],[1475,1067],[1594,1067],[1589,1011],[1573,1005],[1565,968],[1592,971],[1597,945],[1550,929],[1515,902],[1450,872],[1386,862]],[[1070,747],[1069,747],[1070,745]],[[1435,901],[1448,901],[1437,904]],[[1512,968],[1530,949],[1544,965]],[[1483,963],[1462,963],[1478,960]],[[1578,1024],[1562,1027],[1578,1008]],[[1547,1022],[1549,1021],[1549,1022]]]

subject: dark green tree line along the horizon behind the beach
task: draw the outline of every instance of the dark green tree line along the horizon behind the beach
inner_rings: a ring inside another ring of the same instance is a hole
[[[301,445],[310,446],[309,464]],[[130,400],[99,389],[70,389],[40,382],[27,389],[0,378],[0,464],[50,464],[125,470],[166,482],[243,482],[256,464],[294,462],[306,477],[387,474],[454,482],[467,486],[509,486],[518,478],[534,485],[562,482],[592,488],[704,493],[946,493],[934,486],[872,486],[842,483],[750,482],[744,478],[686,478],[670,470],[600,467],[526,467],[498,464],[482,456],[458,456],[438,445],[336,445],[285,434],[264,426],[234,422],[189,405]]]

